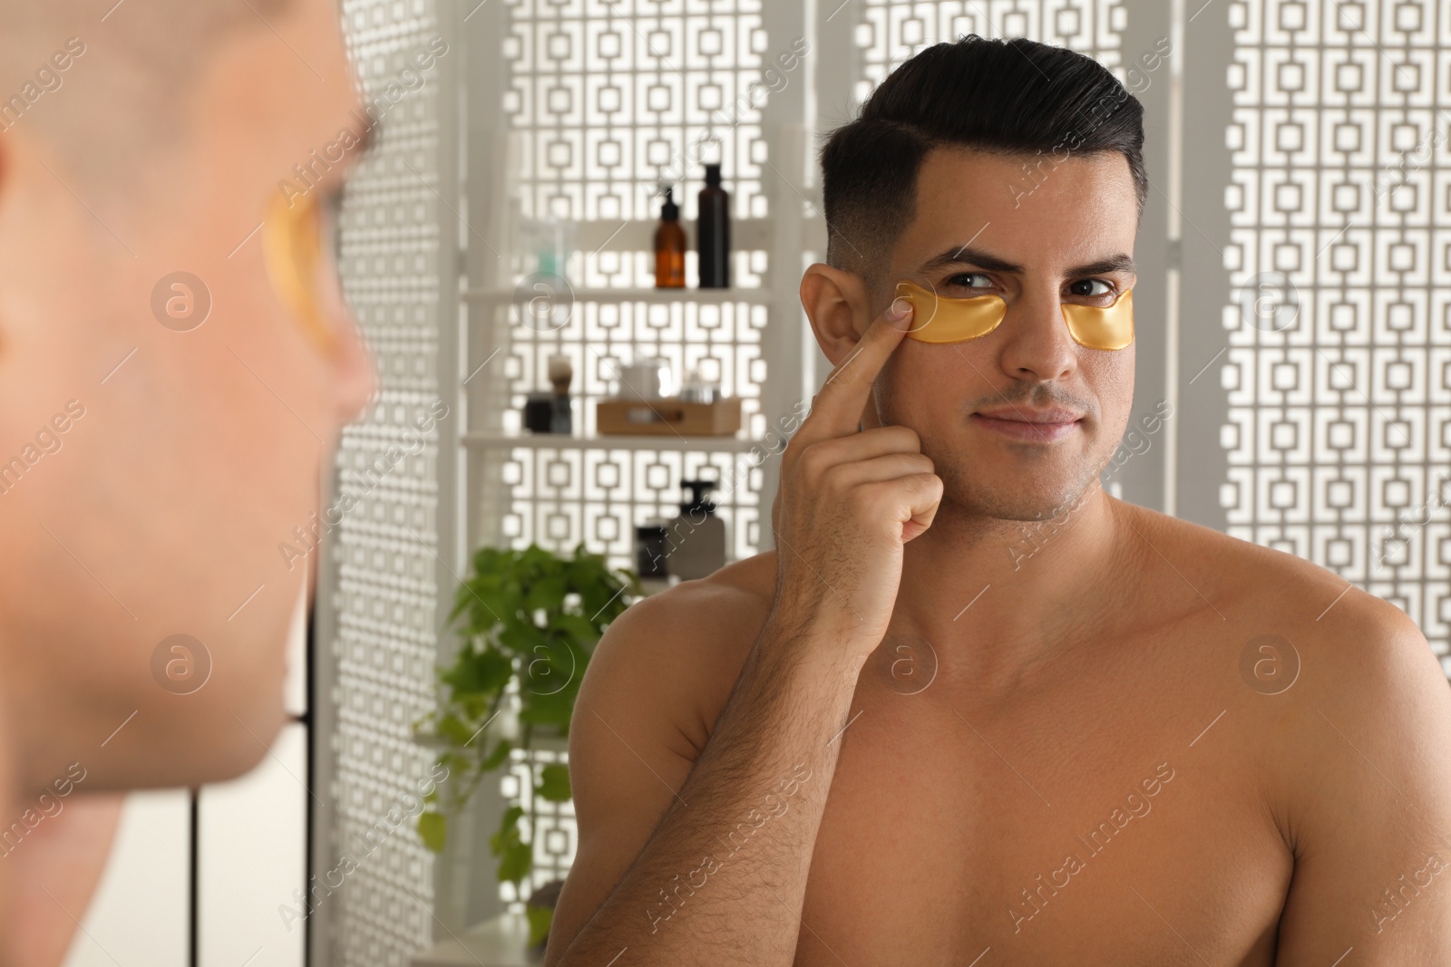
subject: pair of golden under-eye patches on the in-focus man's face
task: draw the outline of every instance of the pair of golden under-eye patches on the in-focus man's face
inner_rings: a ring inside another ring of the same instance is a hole
[[[913,306],[908,339],[918,342],[966,342],[998,328],[1007,315],[1001,296],[949,299],[910,281],[897,283],[897,297]],[[1133,342],[1133,290],[1119,296],[1111,306],[1064,303],[1068,335],[1088,349],[1123,349]]]

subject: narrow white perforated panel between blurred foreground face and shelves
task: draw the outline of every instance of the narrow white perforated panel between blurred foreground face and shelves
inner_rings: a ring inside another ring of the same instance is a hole
[[[396,967],[434,935],[434,864],[414,832],[459,573],[456,4],[344,0],[369,157],[348,181],[340,270],[380,391],[337,458],[341,522],[318,586],[312,963]],[[347,496],[344,496],[347,494]]]

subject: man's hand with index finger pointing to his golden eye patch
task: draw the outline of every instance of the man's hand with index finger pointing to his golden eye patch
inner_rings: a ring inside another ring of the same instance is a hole
[[[773,621],[831,632],[843,657],[865,661],[897,602],[903,545],[929,526],[942,478],[905,426],[858,432],[872,384],[911,326],[894,302],[815,396],[781,460]]]

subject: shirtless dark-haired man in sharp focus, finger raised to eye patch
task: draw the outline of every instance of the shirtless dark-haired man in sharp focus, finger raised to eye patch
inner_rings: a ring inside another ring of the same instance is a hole
[[[966,38],[834,133],[801,299],[836,368],[778,549],[599,644],[548,964],[1451,963],[1419,631],[1098,487],[1133,346],[1065,320],[1135,284],[1140,117],[1084,57]],[[1006,315],[904,338],[934,320],[900,280]]]

